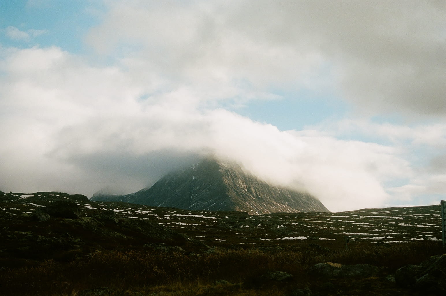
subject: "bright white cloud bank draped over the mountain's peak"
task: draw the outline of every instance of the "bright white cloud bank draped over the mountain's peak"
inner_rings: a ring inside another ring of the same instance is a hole
[[[1,178],[20,188],[48,190],[58,182],[91,195],[120,181],[131,192],[173,167],[129,176],[137,161],[153,161],[159,151],[171,151],[164,159],[211,152],[343,210],[380,206],[389,197],[382,183],[410,172],[392,147],[281,132],[224,109],[200,110],[188,106],[188,88],[141,99],[146,90],[122,69],[91,67],[55,47],[17,50],[2,71],[8,80],[1,108],[9,112],[1,120]]]

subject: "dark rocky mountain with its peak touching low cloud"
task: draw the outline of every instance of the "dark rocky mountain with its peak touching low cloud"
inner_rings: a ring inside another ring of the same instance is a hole
[[[309,193],[270,185],[235,163],[205,159],[171,172],[150,188],[127,195],[96,193],[92,201],[124,201],[190,210],[264,213],[330,212]]]

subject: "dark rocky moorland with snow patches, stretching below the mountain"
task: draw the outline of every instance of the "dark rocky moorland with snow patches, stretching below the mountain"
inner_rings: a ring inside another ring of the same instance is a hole
[[[0,223],[0,295],[446,293],[439,205],[253,216],[0,192]]]

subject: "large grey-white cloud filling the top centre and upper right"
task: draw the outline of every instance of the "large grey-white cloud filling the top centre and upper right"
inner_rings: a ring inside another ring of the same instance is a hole
[[[113,1],[88,41],[182,83],[337,89],[363,113],[445,117],[445,28],[435,1]]]

